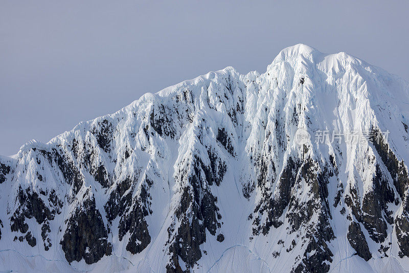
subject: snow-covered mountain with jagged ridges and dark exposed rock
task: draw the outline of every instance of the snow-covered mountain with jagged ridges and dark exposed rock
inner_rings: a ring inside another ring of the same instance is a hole
[[[0,270],[408,271],[408,126],[408,83],[304,44],[145,94],[0,157]]]

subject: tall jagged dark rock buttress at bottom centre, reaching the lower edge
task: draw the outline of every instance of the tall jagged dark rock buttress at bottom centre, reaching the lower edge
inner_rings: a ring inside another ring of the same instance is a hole
[[[169,252],[171,259],[167,265],[168,272],[179,270],[178,257],[186,263],[186,268],[192,268],[201,258],[200,244],[206,242],[206,230],[213,236],[221,226],[219,220],[219,208],[216,206],[217,198],[209,191],[208,187],[203,187],[204,183],[210,185],[208,167],[201,162],[200,158],[193,156],[193,173],[188,177],[186,170],[182,170],[181,179],[188,179],[189,186],[182,190],[180,205],[175,211],[175,217],[180,221],[180,226],[175,231],[173,226],[168,229],[170,244]],[[201,174],[205,173],[205,177]],[[223,171],[224,174],[224,171]],[[223,177],[220,177],[220,181]],[[187,213],[189,211],[189,213]],[[218,236],[217,239],[224,239]],[[172,271],[173,270],[173,271]]]

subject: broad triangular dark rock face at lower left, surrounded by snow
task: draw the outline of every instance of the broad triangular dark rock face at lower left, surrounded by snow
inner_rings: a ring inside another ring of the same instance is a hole
[[[82,207],[78,207],[67,220],[67,228],[60,244],[69,263],[84,259],[87,264],[92,264],[104,255],[111,255],[112,246],[107,238],[95,199],[88,197],[83,200]]]

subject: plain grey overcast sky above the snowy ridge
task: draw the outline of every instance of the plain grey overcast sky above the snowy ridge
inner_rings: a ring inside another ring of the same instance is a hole
[[[256,3],[257,2],[257,3]],[[1,1],[0,154],[306,43],[409,80],[409,1]]]

